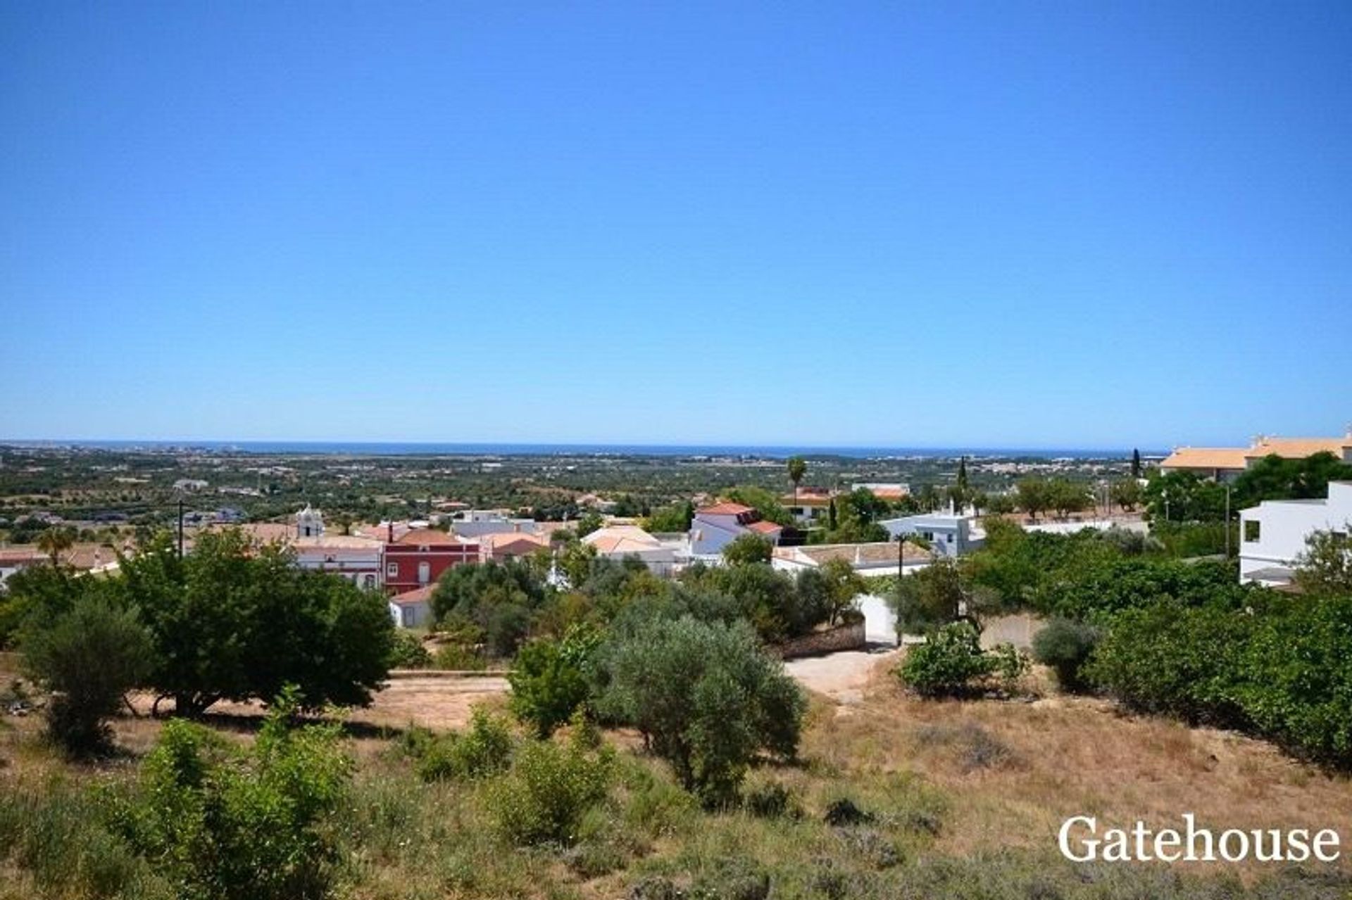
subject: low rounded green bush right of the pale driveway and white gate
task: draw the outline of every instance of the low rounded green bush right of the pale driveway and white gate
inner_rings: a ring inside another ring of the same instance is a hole
[[[1028,661],[1013,646],[982,650],[976,626],[955,622],[911,647],[896,677],[922,697],[960,697],[994,686],[1010,689],[1026,669]]]

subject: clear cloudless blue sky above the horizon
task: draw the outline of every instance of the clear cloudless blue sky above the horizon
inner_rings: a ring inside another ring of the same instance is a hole
[[[0,4],[0,436],[1352,419],[1352,4]]]

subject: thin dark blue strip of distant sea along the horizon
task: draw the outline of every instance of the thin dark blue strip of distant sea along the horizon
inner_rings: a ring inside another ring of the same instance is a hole
[[[780,459],[804,457],[846,457],[856,459],[915,457],[1000,457],[1046,459],[1121,459],[1132,449],[1069,447],[795,447],[775,445],[665,445],[665,443],[437,443],[437,442],[353,442],[353,441],[0,441],[22,447],[88,447],[97,450],[201,450],[211,453],[308,454],[308,455],[477,455],[477,457],[758,457]],[[1141,450],[1142,455],[1163,455]]]

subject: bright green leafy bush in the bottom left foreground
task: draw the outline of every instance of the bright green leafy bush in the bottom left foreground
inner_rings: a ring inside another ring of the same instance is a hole
[[[189,900],[310,900],[339,872],[334,815],[352,761],[337,726],[293,727],[296,693],[272,705],[253,747],[165,724],[131,793],[110,792],[112,830]]]

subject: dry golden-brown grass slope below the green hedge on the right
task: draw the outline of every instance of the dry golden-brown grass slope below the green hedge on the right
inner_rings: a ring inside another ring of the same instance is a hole
[[[937,849],[959,855],[1000,847],[1055,847],[1065,818],[1178,826],[1184,812],[1215,828],[1341,827],[1352,822],[1352,781],[1226,731],[1126,716],[1107,701],[934,703],[909,696],[880,661],[861,704],[834,707],[808,731],[806,751],[831,768],[918,773],[952,797]],[[996,765],[971,765],[963,741],[983,734],[1006,747]]]

